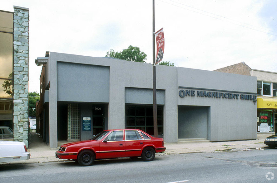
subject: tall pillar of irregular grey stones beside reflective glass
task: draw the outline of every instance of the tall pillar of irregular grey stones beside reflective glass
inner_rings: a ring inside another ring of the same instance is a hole
[[[28,147],[29,9],[13,8],[13,138]]]

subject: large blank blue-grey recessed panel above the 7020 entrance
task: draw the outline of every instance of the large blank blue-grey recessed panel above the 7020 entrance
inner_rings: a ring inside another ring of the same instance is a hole
[[[57,62],[57,100],[109,102],[109,67]]]

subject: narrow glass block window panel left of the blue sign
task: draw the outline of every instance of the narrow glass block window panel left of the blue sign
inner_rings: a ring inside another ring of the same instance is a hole
[[[80,107],[79,104],[68,104],[67,138],[80,139]]]

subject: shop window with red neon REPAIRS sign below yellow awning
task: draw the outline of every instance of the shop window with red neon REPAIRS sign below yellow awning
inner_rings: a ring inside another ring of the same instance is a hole
[[[274,132],[272,115],[272,110],[257,110],[258,132]]]

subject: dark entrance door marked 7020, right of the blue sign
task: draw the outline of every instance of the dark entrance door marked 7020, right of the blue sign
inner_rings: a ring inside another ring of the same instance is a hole
[[[97,135],[104,130],[105,108],[103,105],[93,105],[92,107],[92,135]]]

